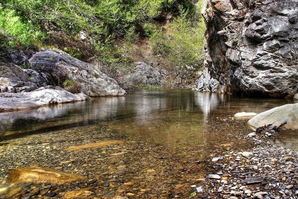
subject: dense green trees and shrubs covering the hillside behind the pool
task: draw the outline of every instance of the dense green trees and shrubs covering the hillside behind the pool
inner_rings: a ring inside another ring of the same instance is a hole
[[[200,9],[187,0],[1,0],[0,51],[57,48],[100,60],[114,78],[134,61],[150,61],[174,68],[186,84],[203,56]]]

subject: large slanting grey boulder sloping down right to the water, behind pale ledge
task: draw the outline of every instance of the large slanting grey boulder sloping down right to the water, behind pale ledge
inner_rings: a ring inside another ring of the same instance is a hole
[[[124,96],[126,92],[118,83],[100,72],[94,65],[82,62],[61,51],[43,50],[29,59],[30,67],[51,77],[55,85],[66,79],[79,84],[87,96]]]

